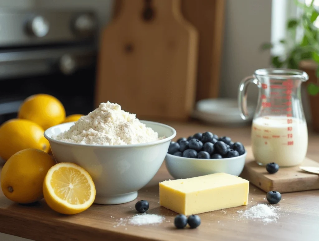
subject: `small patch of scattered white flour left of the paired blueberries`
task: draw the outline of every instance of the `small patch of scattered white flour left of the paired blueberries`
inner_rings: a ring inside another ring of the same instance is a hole
[[[136,226],[141,225],[154,225],[163,223],[165,221],[164,216],[156,215],[156,214],[137,214],[133,217],[120,218],[119,222],[115,225],[115,227],[125,226],[126,224],[132,224]]]

